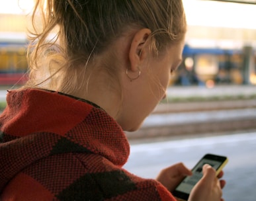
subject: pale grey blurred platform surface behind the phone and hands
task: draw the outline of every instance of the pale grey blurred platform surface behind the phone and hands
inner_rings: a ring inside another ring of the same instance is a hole
[[[205,153],[226,155],[224,167],[227,184],[223,190],[226,201],[256,199],[256,132],[239,132],[222,136],[191,139],[165,139],[150,143],[132,143],[125,169],[144,178],[155,178],[161,169],[183,162],[192,168]]]

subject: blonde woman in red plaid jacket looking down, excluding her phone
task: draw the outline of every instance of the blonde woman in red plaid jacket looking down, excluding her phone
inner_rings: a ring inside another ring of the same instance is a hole
[[[140,128],[181,62],[182,1],[38,0],[32,19],[29,79],[0,116],[1,200],[175,200],[191,171],[128,173],[123,131]],[[221,200],[224,184],[205,165],[189,200]]]

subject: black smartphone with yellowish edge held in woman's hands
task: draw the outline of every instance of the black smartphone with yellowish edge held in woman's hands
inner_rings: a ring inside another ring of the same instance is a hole
[[[228,163],[228,158],[222,155],[206,154],[192,169],[192,176],[187,176],[172,192],[173,196],[179,200],[188,200],[189,194],[193,186],[202,178],[202,167],[205,164],[211,165],[216,169],[216,176],[222,171],[223,167]]]

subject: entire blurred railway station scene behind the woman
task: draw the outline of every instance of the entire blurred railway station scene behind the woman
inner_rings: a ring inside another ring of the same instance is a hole
[[[183,0],[188,32],[167,99],[127,132],[126,169],[152,178],[205,153],[226,155],[226,200],[256,197],[256,1]],[[34,0],[0,1],[0,110],[25,81],[26,28]],[[146,100],[145,100],[146,101]]]

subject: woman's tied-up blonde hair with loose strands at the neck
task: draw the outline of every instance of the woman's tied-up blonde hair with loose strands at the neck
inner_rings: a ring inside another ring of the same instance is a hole
[[[182,0],[36,0],[32,24],[26,87],[45,84],[64,93],[78,87],[79,67],[86,68],[128,28],[149,28],[156,54],[180,42],[187,28]]]

